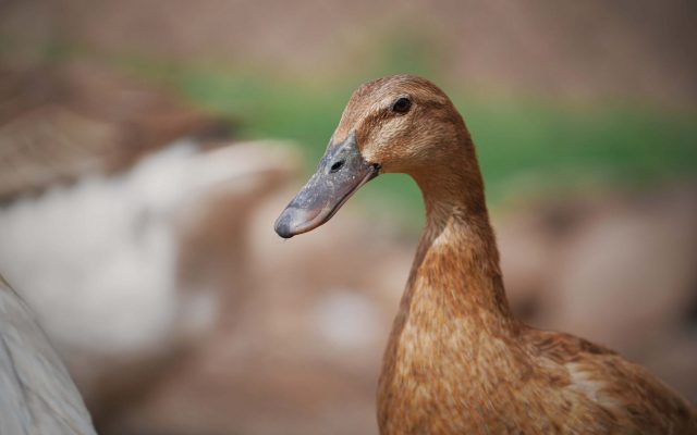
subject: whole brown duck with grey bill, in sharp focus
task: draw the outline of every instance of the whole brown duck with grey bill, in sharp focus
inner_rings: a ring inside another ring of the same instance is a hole
[[[694,406],[646,369],[515,318],[472,136],[425,78],[388,76],[353,92],[277,234],[317,228],[388,173],[416,182],[426,224],[378,381],[381,435],[697,433]]]

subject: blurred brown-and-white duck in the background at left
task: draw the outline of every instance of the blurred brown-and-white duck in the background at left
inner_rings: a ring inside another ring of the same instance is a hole
[[[296,159],[279,142],[233,144],[221,121],[94,65],[0,75],[0,270],[99,421],[242,293],[216,282],[242,266],[187,268],[184,240],[227,202],[225,243],[243,244],[234,221]]]

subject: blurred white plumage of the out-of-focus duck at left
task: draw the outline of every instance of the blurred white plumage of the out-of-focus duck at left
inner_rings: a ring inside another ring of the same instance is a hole
[[[293,167],[288,149],[201,152],[182,139],[120,175],[14,201],[0,209],[0,271],[61,349],[108,358],[166,348],[175,325],[200,330],[215,318],[215,300],[179,291],[182,221],[210,195],[253,195],[267,172]]]

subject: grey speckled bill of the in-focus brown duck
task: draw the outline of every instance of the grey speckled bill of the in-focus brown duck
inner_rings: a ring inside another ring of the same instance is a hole
[[[276,232],[291,238],[317,228],[379,172],[379,164],[368,163],[360,156],[355,133],[330,144],[315,175],[276,220]]]

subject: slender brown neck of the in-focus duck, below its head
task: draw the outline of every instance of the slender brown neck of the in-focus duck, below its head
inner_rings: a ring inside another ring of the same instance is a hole
[[[444,323],[476,322],[476,331],[484,333],[517,330],[505,298],[484,184],[466,130],[458,144],[445,149],[452,152],[437,171],[413,174],[426,204],[426,228],[402,308],[416,316],[442,314]]]

